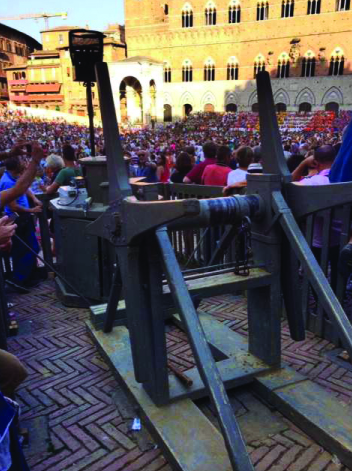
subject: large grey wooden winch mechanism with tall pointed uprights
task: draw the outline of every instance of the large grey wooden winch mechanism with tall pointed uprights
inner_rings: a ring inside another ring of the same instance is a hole
[[[282,365],[280,345],[282,298],[292,338],[305,336],[297,290],[300,263],[352,357],[350,322],[295,218],[351,202],[352,183],[318,189],[291,183],[269,74],[260,72],[257,91],[264,173],[248,175],[247,195],[139,201],[132,195],[123,160],[107,64],[97,64],[96,74],[110,205],[88,231],[111,242],[118,263],[104,308],[103,331],[88,325],[165,456],[182,471],[253,470],[226,392],[251,383],[352,468],[352,421],[346,410],[318,385]],[[257,268],[241,276],[233,267],[216,263],[235,235],[232,227],[245,217],[251,219],[253,266]],[[224,224],[229,229],[208,271],[184,274],[168,231]],[[237,290],[248,293],[248,344],[195,308],[195,295],[205,298]],[[98,312],[96,307],[91,309],[93,315]],[[196,361],[197,367],[187,371],[188,381],[168,374],[165,318],[170,316],[187,333]],[[192,402],[202,396],[212,401],[222,437]]]

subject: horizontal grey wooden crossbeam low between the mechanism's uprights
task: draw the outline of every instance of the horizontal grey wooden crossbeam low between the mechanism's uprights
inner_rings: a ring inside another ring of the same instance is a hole
[[[235,275],[234,273],[225,273],[221,275],[212,275],[205,278],[198,278],[195,280],[187,280],[185,278],[189,293],[200,296],[201,298],[211,298],[221,294],[231,294],[238,290],[258,288],[260,286],[267,286],[271,282],[271,274],[262,268],[252,268],[249,276]],[[165,310],[168,310],[167,317],[174,313],[172,311],[173,300],[170,294],[170,288],[167,284],[163,286],[163,293],[165,295]],[[104,314],[107,304],[99,304],[90,308],[90,320],[95,328],[102,328],[104,321]],[[171,308],[171,311],[169,310]],[[123,325],[126,322],[126,305],[125,301],[121,300],[118,304],[116,311],[116,318],[114,325]]]

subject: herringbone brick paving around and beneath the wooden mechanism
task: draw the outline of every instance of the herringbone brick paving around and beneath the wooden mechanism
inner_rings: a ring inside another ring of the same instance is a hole
[[[30,469],[171,471],[150,439],[131,434],[132,417],[116,407],[119,388],[87,335],[88,312],[64,308],[50,282],[12,301],[22,333],[9,340],[9,348],[29,372],[18,399],[22,420],[30,424]],[[247,334],[243,298],[214,298],[202,309]],[[352,402],[352,373],[324,355],[332,345],[311,334],[304,342],[293,342],[284,327],[283,347],[284,360],[293,368],[341,401]],[[168,350],[170,360],[182,369],[193,366],[186,337],[176,328],[168,332]],[[286,424],[280,433],[247,443],[256,471],[347,469],[289,421],[280,420]]]

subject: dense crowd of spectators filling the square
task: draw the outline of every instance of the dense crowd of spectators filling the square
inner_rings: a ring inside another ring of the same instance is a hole
[[[330,172],[334,182],[352,181],[351,163],[346,167],[346,159],[339,152],[340,148],[345,153],[351,148],[350,119],[349,112],[338,117],[326,112],[278,116],[283,153],[294,182],[303,186],[329,184]],[[265,156],[260,147],[258,115],[254,113],[194,114],[155,129],[122,130],[121,141],[124,156],[130,161],[130,175],[144,177],[147,182],[215,185],[228,195],[246,186],[248,173],[263,172]],[[100,128],[95,129],[95,142],[97,155],[104,155]],[[60,186],[70,184],[72,178],[81,175],[79,158],[89,155],[89,130],[84,126],[0,112],[0,206],[4,211],[0,252],[11,257],[12,275],[7,281],[15,289],[26,291],[42,279],[35,256],[40,251],[35,215],[42,210],[37,194],[53,194]],[[334,168],[337,155],[339,166]],[[312,250],[318,261],[322,224],[317,217]],[[341,224],[333,221],[329,249],[333,288],[339,260],[341,263],[340,232]],[[343,255],[340,272],[345,270],[347,276],[352,271],[352,238]],[[13,372],[10,376],[14,380],[0,384],[0,390],[11,396],[26,372],[15,357],[0,350],[0,378],[10,377],[5,367]],[[9,408],[1,394],[0,408]]]

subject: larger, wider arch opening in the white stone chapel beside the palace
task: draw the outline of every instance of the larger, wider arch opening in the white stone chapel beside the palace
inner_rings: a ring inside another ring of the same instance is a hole
[[[121,121],[143,122],[142,85],[135,77],[125,77],[120,84]]]

